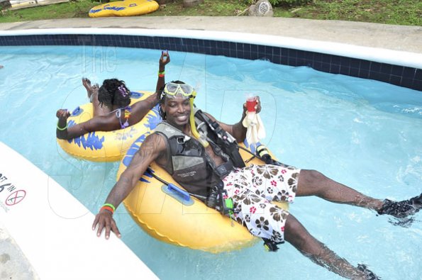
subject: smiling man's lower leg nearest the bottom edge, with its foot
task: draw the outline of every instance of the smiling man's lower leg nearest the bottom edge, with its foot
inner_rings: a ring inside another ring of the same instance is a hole
[[[309,234],[293,215],[288,215],[284,226],[284,240],[293,245],[299,252],[316,264],[348,279],[379,279],[365,265],[353,267],[345,259],[339,257]]]

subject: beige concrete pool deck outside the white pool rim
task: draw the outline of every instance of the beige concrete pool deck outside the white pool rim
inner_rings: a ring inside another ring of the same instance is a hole
[[[328,41],[362,47],[422,54],[422,27],[392,26],[377,23],[313,21],[298,18],[257,17],[128,17],[72,18],[47,21],[0,23],[0,30],[43,28],[146,28],[206,30],[276,35],[306,40]],[[0,61],[1,64],[1,61]],[[0,279],[36,279],[36,274],[22,274],[16,263],[26,264],[13,238],[0,223]]]

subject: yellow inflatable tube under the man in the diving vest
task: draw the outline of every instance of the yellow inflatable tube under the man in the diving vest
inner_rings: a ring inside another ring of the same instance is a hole
[[[133,142],[121,161],[117,179],[128,167],[144,139],[140,138]],[[250,150],[255,150],[255,147]],[[240,154],[245,161],[252,157],[243,150],[240,150]],[[260,159],[254,158],[246,164],[262,163]],[[170,174],[155,162],[150,165],[150,169],[157,177],[179,186]],[[198,199],[191,197],[189,202],[181,200],[164,184],[147,173],[140,178],[123,204],[140,228],[157,240],[172,245],[220,253],[249,247],[260,240],[251,235],[247,228],[221,215],[218,211],[206,207]],[[286,210],[289,209],[288,203],[275,204]]]

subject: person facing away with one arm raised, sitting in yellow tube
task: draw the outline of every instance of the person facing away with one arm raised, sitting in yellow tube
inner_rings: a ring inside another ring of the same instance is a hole
[[[165,84],[165,65],[170,62],[168,52],[162,52],[159,61],[156,91]],[[157,94],[152,94],[145,100],[131,103],[131,91],[125,82],[118,79],[105,79],[102,86],[91,86],[87,78],[82,78],[82,84],[87,89],[88,97],[94,108],[94,116],[89,121],[67,127],[70,112],[59,109],[56,113],[59,119],[56,136],[59,139],[70,140],[92,131],[111,131],[126,128],[138,123],[158,103]]]

